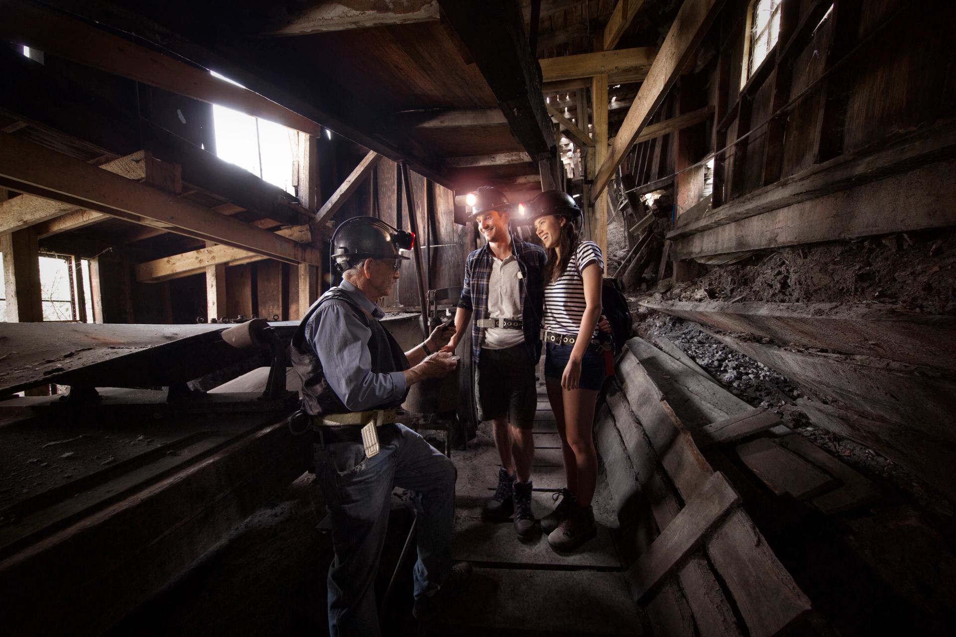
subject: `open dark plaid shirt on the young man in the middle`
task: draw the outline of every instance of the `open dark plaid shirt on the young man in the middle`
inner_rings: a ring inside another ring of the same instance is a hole
[[[524,285],[521,290],[521,320],[524,322],[525,343],[540,355],[541,317],[544,312],[544,249],[511,236],[511,251],[518,262]],[[488,244],[471,252],[465,261],[465,283],[462,286],[459,308],[471,310],[471,359],[478,364],[481,346],[485,342],[485,328],[478,327],[478,319],[491,318],[488,313],[488,280],[494,257]]]

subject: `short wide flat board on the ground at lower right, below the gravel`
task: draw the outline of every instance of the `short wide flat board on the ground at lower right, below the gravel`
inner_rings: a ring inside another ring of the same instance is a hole
[[[771,438],[737,445],[737,456],[773,493],[809,499],[836,488],[836,480]]]

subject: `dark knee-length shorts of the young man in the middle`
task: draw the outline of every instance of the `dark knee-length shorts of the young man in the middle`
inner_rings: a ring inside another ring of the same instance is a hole
[[[534,361],[524,343],[507,350],[481,350],[475,370],[478,417],[508,417],[512,427],[531,429],[537,408]]]

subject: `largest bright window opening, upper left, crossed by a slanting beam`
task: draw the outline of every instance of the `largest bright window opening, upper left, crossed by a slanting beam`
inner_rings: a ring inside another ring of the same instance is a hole
[[[237,84],[223,75],[213,75]],[[218,104],[212,105],[212,121],[219,159],[245,168],[256,177],[295,194],[293,164],[298,134],[293,129]]]

